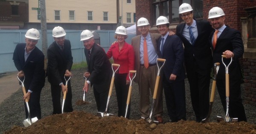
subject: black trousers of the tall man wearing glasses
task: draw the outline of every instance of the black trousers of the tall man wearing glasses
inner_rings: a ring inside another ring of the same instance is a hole
[[[202,70],[194,63],[193,66],[186,67],[189,80],[190,96],[196,121],[204,119],[209,110],[209,85],[211,69]]]

